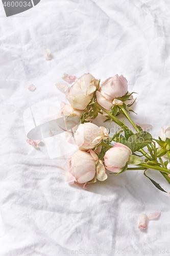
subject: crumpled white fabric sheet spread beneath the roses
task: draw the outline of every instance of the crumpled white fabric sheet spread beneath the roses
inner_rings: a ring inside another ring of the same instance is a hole
[[[68,156],[51,160],[43,141],[38,150],[27,144],[22,115],[44,99],[65,100],[55,86],[64,72],[78,77],[90,72],[101,81],[123,74],[129,91],[138,93],[133,119],[152,124],[157,137],[161,126],[170,124],[169,10],[168,0],[41,0],[7,18],[1,5],[1,256],[56,256],[79,249],[79,255],[97,249],[98,255],[134,249],[138,255],[165,249],[168,255],[168,194],[142,171],[110,175],[86,190],[68,185]],[[44,59],[44,48],[53,60]],[[27,89],[32,83],[34,92]],[[149,172],[170,191],[161,174]],[[158,210],[158,220],[137,228],[142,213]]]

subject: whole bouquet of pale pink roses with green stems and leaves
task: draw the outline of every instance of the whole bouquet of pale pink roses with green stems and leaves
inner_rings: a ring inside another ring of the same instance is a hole
[[[109,77],[100,84],[100,80],[88,73],[67,89],[66,98],[70,105],[64,104],[60,114],[67,116],[67,124],[72,118],[79,120],[72,133],[79,150],[70,156],[66,174],[68,183],[84,183],[85,187],[87,183],[106,180],[106,170],[116,175],[126,170],[143,170],[145,177],[166,192],[146,172],[149,168],[154,169],[170,183],[170,126],[165,130],[162,128],[160,137],[155,139],[142,125],[134,123],[129,115],[134,112],[132,94],[128,92],[128,81],[123,75]],[[99,113],[119,126],[112,137],[109,129],[92,123]],[[131,122],[135,133],[118,119],[120,113]]]

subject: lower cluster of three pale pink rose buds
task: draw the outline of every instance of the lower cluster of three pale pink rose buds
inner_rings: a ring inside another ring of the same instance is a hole
[[[69,160],[69,172],[67,182],[72,184],[93,183],[96,180],[107,179],[105,166],[113,173],[119,173],[125,167],[129,156],[132,154],[129,147],[122,143],[116,143],[104,156],[104,164],[92,148],[101,144],[102,140],[109,138],[105,127],[98,127],[93,123],[80,124],[75,135],[76,144],[79,151],[75,152]],[[102,144],[101,144],[102,145]],[[96,152],[100,153],[98,148]]]

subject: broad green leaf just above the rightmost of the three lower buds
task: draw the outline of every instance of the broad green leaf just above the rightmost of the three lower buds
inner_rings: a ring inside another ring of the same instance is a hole
[[[140,132],[133,134],[129,137],[127,141],[127,146],[131,149],[132,153],[135,151],[140,150],[144,146],[151,144],[152,142],[152,135],[147,132]]]

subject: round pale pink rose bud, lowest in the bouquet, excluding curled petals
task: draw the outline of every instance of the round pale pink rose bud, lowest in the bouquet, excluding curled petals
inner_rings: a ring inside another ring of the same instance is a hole
[[[86,183],[95,176],[95,161],[90,153],[85,151],[75,152],[69,159],[69,171],[66,174],[66,181],[73,184]]]

